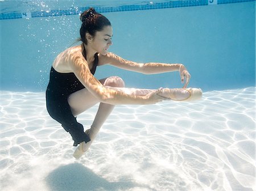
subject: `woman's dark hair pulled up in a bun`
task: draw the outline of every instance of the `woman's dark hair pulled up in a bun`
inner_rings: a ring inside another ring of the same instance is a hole
[[[82,22],[82,26],[80,28],[80,40],[84,44],[87,44],[85,37],[86,32],[94,36],[97,31],[102,31],[105,26],[111,26],[109,19],[96,12],[93,7],[90,7],[90,9],[82,12],[80,15],[80,20]]]

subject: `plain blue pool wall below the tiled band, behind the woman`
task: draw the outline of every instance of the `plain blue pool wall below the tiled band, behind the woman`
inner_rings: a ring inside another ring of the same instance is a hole
[[[255,2],[106,12],[111,52],[136,62],[184,63],[192,87],[204,91],[255,86]],[[76,41],[79,15],[0,20],[1,90],[44,91],[51,63]],[[179,74],[143,75],[112,66],[97,78],[127,87],[181,87]]]

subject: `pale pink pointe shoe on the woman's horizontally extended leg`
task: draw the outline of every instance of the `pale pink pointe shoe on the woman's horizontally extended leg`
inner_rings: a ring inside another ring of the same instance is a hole
[[[196,101],[201,99],[202,94],[200,88],[163,88],[157,95],[174,101]]]

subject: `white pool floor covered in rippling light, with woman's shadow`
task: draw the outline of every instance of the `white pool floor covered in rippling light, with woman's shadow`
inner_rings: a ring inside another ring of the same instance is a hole
[[[255,87],[118,105],[79,160],[43,93],[1,99],[1,190],[256,190]]]

